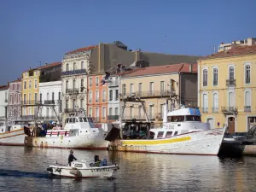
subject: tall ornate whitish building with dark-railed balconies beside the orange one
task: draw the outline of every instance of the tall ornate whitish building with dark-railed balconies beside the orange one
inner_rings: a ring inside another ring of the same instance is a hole
[[[76,49],[62,60],[62,121],[77,111],[86,113],[87,73],[90,73],[90,55],[96,46]]]

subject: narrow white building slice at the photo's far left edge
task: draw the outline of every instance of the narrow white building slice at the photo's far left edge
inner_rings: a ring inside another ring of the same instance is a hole
[[[9,90],[7,85],[0,86],[0,119],[6,119],[7,117],[7,105],[8,105]]]

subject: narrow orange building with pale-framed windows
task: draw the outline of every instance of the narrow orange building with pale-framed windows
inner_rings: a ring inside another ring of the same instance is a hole
[[[103,76],[102,74],[90,74],[87,79],[87,112],[95,123],[108,122],[108,85],[102,85]]]

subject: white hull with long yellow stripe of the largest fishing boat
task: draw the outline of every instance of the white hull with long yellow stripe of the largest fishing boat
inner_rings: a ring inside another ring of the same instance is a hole
[[[217,155],[225,128],[194,131],[165,139],[116,140],[109,150],[157,154]]]

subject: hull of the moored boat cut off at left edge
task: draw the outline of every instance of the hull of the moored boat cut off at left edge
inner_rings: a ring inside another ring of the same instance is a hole
[[[0,145],[5,146],[24,146],[26,134],[24,130],[9,131],[0,134]]]

